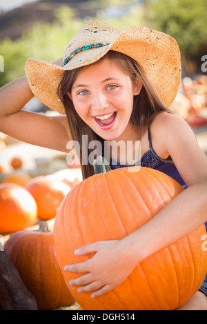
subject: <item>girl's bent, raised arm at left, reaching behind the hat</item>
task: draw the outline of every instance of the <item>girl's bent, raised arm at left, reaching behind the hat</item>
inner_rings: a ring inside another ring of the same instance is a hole
[[[66,117],[22,110],[33,97],[25,75],[0,88],[0,132],[19,141],[67,152],[70,134]]]

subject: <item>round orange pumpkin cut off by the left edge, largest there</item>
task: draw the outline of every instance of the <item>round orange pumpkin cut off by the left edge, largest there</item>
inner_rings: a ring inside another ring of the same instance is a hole
[[[8,234],[34,225],[37,204],[25,188],[14,183],[0,185],[0,234]]]

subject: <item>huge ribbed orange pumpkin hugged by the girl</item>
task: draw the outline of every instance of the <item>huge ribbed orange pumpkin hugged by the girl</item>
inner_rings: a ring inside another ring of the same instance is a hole
[[[95,174],[79,183],[61,203],[54,238],[59,264],[68,283],[80,274],[67,264],[92,255],[74,251],[88,243],[122,239],[150,221],[183,188],[166,174],[141,168]],[[131,172],[128,172],[128,171]],[[134,169],[135,170],[135,169]],[[175,310],[193,296],[206,275],[207,252],[201,249],[205,226],[137,264],[128,279],[98,298],[70,289],[83,310]],[[150,239],[150,238],[149,238]]]

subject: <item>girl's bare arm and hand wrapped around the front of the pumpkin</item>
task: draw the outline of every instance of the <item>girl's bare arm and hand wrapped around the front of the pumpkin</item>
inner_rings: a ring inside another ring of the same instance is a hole
[[[126,238],[92,243],[79,249],[77,254],[96,254],[86,262],[66,266],[70,272],[87,272],[70,284],[80,285],[81,292],[95,290],[94,297],[112,290],[126,279],[135,265],[207,221],[207,158],[192,130],[176,115],[166,113],[160,114],[150,129],[154,148],[159,143],[163,155],[170,154],[188,189]]]

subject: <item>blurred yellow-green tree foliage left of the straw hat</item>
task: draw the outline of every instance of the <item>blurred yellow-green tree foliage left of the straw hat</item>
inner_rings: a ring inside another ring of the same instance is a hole
[[[9,38],[0,41],[0,54],[4,59],[4,72],[0,72],[0,86],[21,77],[29,57],[41,61],[55,61],[83,21],[75,19],[75,12],[68,6],[55,12],[55,23],[36,23],[23,32],[16,41]]]

